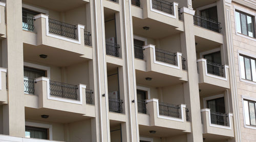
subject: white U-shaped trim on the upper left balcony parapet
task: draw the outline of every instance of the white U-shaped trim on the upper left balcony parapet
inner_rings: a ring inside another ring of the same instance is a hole
[[[51,34],[49,33],[49,17],[48,15],[44,15],[44,14],[38,14],[34,16],[34,19],[38,19],[38,18],[45,18],[46,19],[46,35],[49,37],[53,37],[53,38],[57,38],[57,39],[61,39],[61,40],[65,40],[65,41],[69,41],[69,42],[73,42],[73,43],[77,43],[77,44],[81,44],[81,29],[84,29],[83,25],[79,25],[77,26],[77,37],[78,40],[76,39],[71,39],[71,38],[66,38],[63,36],[59,36],[59,35],[55,35],[55,34]]]

